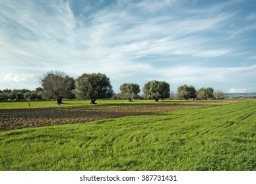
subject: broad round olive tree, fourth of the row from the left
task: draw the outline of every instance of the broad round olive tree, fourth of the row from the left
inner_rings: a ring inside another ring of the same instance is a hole
[[[170,97],[170,85],[166,81],[148,81],[144,84],[143,93],[146,99],[165,99]]]

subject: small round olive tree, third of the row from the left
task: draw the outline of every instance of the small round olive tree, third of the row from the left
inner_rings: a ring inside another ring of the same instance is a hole
[[[120,91],[121,97],[123,97],[123,99],[129,99],[131,102],[137,97],[138,93],[141,92],[141,89],[136,83],[123,83],[120,86]]]

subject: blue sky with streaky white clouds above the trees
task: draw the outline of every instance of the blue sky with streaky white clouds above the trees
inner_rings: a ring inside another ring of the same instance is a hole
[[[256,92],[255,0],[0,0],[0,89],[60,70]]]

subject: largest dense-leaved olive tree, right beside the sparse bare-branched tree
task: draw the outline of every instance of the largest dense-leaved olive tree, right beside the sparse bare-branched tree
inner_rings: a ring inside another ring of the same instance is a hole
[[[80,99],[90,99],[91,104],[96,104],[97,99],[113,96],[110,78],[105,74],[82,74],[76,80],[75,93]]]

